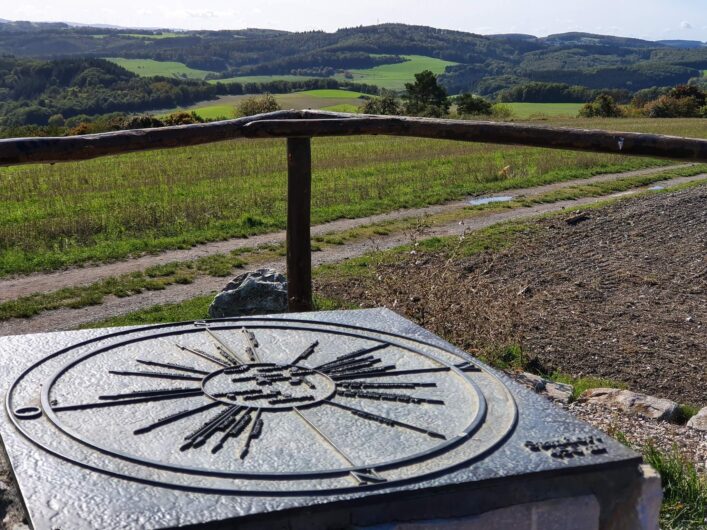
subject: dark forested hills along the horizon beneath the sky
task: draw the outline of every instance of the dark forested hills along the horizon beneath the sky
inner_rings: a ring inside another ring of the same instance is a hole
[[[0,54],[31,58],[122,57],[176,61],[208,77],[305,75],[366,69],[422,55],[457,63],[441,82],[450,93],[495,95],[519,85],[568,83],[631,92],[686,83],[707,70],[701,43],[565,33],[482,36],[424,26],[383,24],[333,33],[268,29],[147,31],[0,23]]]

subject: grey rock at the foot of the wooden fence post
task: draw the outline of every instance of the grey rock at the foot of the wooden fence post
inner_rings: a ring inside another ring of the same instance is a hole
[[[273,269],[246,272],[231,280],[209,306],[210,318],[287,311],[287,279]]]

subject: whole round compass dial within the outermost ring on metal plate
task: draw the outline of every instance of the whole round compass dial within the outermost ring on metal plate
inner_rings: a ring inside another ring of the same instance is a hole
[[[515,422],[512,399],[489,408],[489,389],[507,391],[468,358],[315,321],[135,329],[40,368],[8,397],[18,429],[79,464],[180,487],[376,487],[477,458]]]

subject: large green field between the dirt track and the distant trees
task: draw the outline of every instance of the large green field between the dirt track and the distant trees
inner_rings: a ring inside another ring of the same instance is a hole
[[[705,120],[568,123],[707,136]],[[656,164],[645,158],[415,138],[318,138],[313,141],[312,219],[360,217]],[[506,166],[510,170],[501,172]],[[0,168],[0,275],[281,229],[285,189],[283,140]]]

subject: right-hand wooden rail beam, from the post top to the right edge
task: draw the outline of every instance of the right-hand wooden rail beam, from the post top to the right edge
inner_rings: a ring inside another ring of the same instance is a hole
[[[616,153],[707,163],[707,140],[635,132],[546,127],[519,123],[407,117],[327,117],[259,120],[244,127],[248,138],[393,135],[465,142],[524,145]]]

